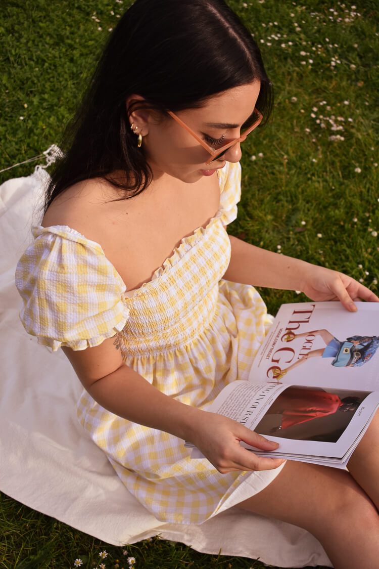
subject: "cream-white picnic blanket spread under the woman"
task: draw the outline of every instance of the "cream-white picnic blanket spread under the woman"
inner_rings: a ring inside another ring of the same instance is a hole
[[[280,567],[331,566],[305,530],[232,508],[200,526],[162,523],[147,512],[76,419],[81,391],[61,351],[24,331],[14,286],[16,262],[39,221],[47,173],[0,186],[0,490],[23,504],[114,545],[160,534],[195,550],[260,558]]]

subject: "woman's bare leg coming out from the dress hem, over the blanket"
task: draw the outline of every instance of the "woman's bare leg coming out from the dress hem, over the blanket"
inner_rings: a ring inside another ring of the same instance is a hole
[[[378,512],[346,471],[288,461],[269,486],[239,506],[310,531],[335,569],[378,567]]]

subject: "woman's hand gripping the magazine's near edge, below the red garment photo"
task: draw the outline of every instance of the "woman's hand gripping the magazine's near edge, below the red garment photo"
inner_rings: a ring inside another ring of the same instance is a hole
[[[264,436],[223,415],[209,411],[201,413],[190,440],[222,474],[271,470],[284,463],[282,459],[256,456],[239,444],[243,441],[262,450],[273,451],[278,448],[278,443],[268,441]]]

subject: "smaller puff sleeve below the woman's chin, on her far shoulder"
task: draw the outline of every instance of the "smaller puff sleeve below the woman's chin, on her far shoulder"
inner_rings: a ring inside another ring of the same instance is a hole
[[[227,162],[219,170],[219,184],[222,222],[228,225],[237,217],[237,204],[241,199],[241,164]]]

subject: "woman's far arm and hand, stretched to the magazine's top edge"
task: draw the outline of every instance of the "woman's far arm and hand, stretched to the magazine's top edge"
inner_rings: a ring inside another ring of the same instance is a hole
[[[338,271],[311,265],[300,259],[273,253],[229,236],[231,260],[224,279],[268,288],[299,290],[310,299],[340,300],[347,310],[356,311],[356,300],[379,302],[363,284]]]

